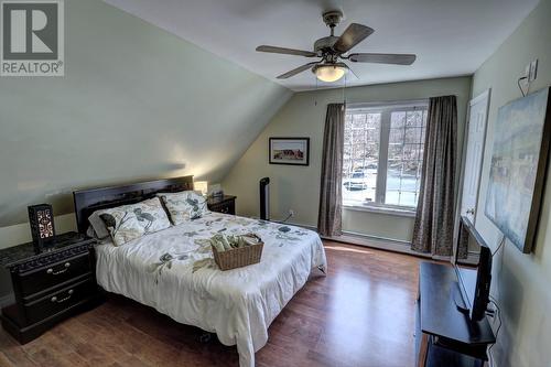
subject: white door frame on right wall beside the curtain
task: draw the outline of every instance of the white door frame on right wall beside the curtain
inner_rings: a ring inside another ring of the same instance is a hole
[[[482,171],[484,166],[484,152],[486,149],[486,137],[488,132],[488,114],[489,114],[489,104],[490,104],[490,96],[491,96],[491,88],[484,90],[482,94],[476,96],[475,98],[471,99],[468,101],[467,106],[467,116],[466,116],[466,123],[465,123],[465,129],[463,131],[463,147],[462,147],[462,160],[461,160],[461,172],[460,172],[460,186],[457,187],[457,202],[455,204],[455,219],[454,219],[454,235],[453,235],[453,262],[456,260],[456,251],[457,247],[455,244],[457,242],[457,237],[458,237],[458,224],[460,224],[460,218],[461,218],[461,205],[463,201],[463,184],[464,184],[464,179],[465,179],[465,160],[467,155],[467,143],[468,143],[468,127],[471,125],[471,107],[473,105],[476,105],[480,100],[487,99],[486,104],[486,125],[484,128],[484,143],[483,143],[483,149],[482,149],[482,161],[480,161],[480,168],[479,168],[479,177],[478,177],[478,187],[476,188],[476,203],[478,204],[478,198],[480,196],[480,176],[482,176]],[[473,225],[476,227],[476,218],[478,217],[478,211],[475,212],[475,218]]]

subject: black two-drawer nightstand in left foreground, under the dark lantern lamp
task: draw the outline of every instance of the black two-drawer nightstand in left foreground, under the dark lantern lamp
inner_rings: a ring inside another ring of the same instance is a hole
[[[77,233],[56,236],[40,252],[32,242],[0,250],[11,274],[15,303],[2,309],[3,328],[28,343],[101,296],[95,277],[95,239]]]

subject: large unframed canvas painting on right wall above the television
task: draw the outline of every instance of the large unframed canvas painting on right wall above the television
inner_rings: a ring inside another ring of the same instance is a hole
[[[522,252],[536,237],[549,155],[549,88],[499,108],[486,216]]]

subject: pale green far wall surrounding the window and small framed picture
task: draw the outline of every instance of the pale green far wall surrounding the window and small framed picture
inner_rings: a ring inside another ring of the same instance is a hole
[[[456,95],[461,147],[471,94],[471,77],[371,85],[346,88],[344,91],[324,89],[298,93],[274,116],[223,181],[225,191],[238,196],[239,214],[259,215],[258,181],[269,176],[272,218],[282,219],[289,209],[294,209],[295,217],[291,222],[316,226],[325,111],[327,104],[343,101],[343,93],[346,101],[350,104]],[[270,137],[310,137],[310,165],[304,168],[268,164]],[[343,227],[348,231],[410,241],[413,218],[344,209]]]

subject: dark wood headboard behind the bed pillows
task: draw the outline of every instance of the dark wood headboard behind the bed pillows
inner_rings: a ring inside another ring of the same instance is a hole
[[[193,176],[139,182],[123,186],[99,187],[73,192],[78,231],[88,229],[88,217],[98,209],[134,204],[155,196],[156,193],[174,193],[193,190]]]

